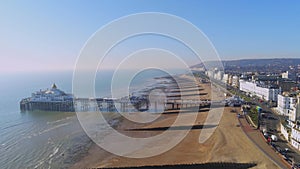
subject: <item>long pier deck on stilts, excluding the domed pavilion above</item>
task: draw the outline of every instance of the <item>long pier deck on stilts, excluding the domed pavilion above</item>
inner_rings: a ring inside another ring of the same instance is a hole
[[[176,100],[168,99],[165,102],[153,102],[153,105],[146,99],[136,99],[134,101],[125,99],[111,98],[75,98],[74,100],[45,102],[45,101],[30,101],[23,99],[20,102],[21,111],[65,111],[65,112],[137,112],[150,111],[158,112],[159,105],[163,106],[162,111],[178,110],[191,107],[210,107],[211,105],[225,105],[224,101],[210,100]],[[160,109],[161,110],[161,109]]]

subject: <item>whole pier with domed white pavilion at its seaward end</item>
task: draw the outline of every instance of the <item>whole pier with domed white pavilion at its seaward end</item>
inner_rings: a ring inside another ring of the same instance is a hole
[[[228,100],[204,100],[200,99],[201,95],[207,93],[197,92],[186,93],[191,91],[201,91],[200,86],[192,86],[186,83],[184,89],[180,90],[178,86],[169,86],[163,89],[166,98],[160,98],[157,95],[150,102],[149,91],[142,96],[130,96],[119,99],[114,98],[76,98],[72,94],[66,94],[57,89],[53,84],[51,89],[40,90],[32,93],[29,98],[22,99],[20,109],[24,111],[59,111],[59,112],[163,112],[168,110],[188,109],[199,107],[226,106],[232,101]],[[183,92],[183,93],[182,93]],[[237,99],[233,99],[237,100]],[[238,101],[239,102],[239,101]]]

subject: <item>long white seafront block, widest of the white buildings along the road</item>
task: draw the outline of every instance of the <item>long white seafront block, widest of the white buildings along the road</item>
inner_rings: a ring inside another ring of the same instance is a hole
[[[240,80],[239,86],[241,91],[258,96],[267,101],[277,101],[278,94],[281,93],[280,88],[263,86],[252,81]]]

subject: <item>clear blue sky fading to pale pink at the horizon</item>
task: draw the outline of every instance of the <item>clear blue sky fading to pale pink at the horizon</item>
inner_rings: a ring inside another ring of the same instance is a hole
[[[168,13],[191,22],[224,60],[300,56],[300,1],[12,0],[0,2],[0,72],[72,70],[97,30],[120,17],[142,12]],[[142,46],[161,44],[179,53],[185,51],[172,47],[175,43],[171,40],[163,43],[165,39],[157,39],[136,38],[127,43],[132,48],[143,42]],[[129,48],[126,43],[123,46]],[[196,64],[186,57],[188,64]],[[108,59],[105,68],[113,62]]]

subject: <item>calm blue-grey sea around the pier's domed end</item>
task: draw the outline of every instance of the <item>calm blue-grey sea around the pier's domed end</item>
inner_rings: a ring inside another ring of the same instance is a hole
[[[130,71],[130,70],[127,70]],[[124,71],[126,73],[126,71]],[[173,73],[183,73],[174,70]],[[97,97],[110,97],[113,71],[97,73]],[[158,70],[138,74],[130,92],[155,85],[155,77],[166,76]],[[69,168],[83,158],[92,141],[81,128],[74,112],[21,112],[19,102],[31,93],[50,88],[53,83],[72,92],[72,71],[0,74],[0,168]],[[120,92],[128,90],[119,84]]]

